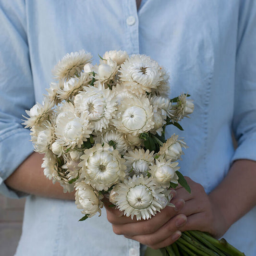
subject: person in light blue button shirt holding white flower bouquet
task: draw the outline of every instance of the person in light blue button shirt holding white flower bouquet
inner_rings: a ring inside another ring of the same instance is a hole
[[[161,248],[186,230],[224,235],[245,255],[256,254],[253,0],[142,0],[139,7],[117,0],[2,0],[0,10],[0,189],[27,196],[17,256],[139,255],[140,243]],[[81,223],[74,193],[44,177],[43,155],[32,153],[22,115],[42,101],[57,61],[80,49],[94,59],[111,49],[150,55],[170,73],[168,95],[193,96],[184,131],[166,130],[189,146],[180,166],[192,192],[177,187],[175,208],[137,221],[107,205],[103,218]]]

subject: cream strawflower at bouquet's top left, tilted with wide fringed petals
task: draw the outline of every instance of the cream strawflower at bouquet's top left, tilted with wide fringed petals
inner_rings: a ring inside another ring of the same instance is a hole
[[[91,59],[92,55],[85,50],[68,53],[54,67],[52,73],[58,80],[68,80],[74,75],[79,76]]]

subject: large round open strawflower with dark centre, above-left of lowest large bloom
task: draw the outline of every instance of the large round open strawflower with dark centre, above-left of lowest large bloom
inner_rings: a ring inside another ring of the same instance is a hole
[[[83,161],[78,165],[82,167],[80,177],[85,178],[85,183],[99,191],[107,191],[125,177],[125,160],[121,158],[118,150],[108,144],[96,144],[85,149],[81,159]]]

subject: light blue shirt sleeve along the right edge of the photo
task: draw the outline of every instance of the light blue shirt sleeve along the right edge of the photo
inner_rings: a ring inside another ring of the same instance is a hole
[[[256,160],[256,1],[241,1],[238,23],[232,160]]]

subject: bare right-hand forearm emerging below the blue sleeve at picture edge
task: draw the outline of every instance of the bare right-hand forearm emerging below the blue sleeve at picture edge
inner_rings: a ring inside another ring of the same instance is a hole
[[[256,206],[256,162],[237,160],[224,180],[209,195],[228,228]]]

